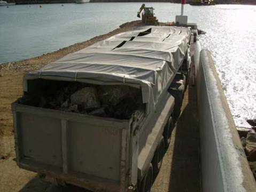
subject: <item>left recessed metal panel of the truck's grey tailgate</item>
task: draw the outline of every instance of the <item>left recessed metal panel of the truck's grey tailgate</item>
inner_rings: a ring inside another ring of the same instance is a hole
[[[19,127],[23,158],[62,167],[59,119],[19,113]]]

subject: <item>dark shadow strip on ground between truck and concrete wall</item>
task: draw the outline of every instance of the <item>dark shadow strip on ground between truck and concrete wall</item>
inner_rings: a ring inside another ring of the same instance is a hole
[[[190,81],[191,82],[191,81]],[[200,191],[200,138],[196,87],[188,86],[176,124],[169,191]]]

